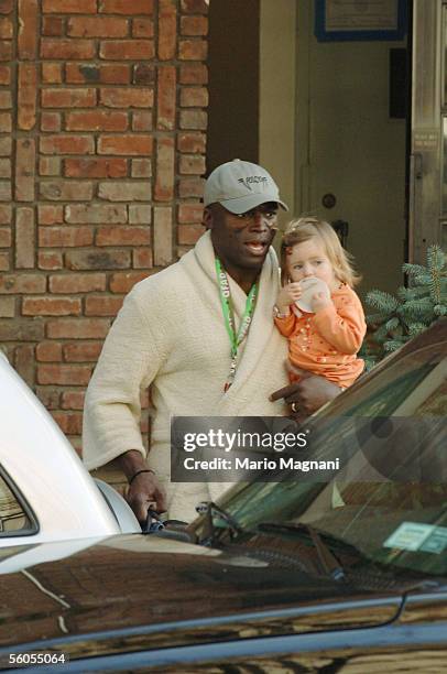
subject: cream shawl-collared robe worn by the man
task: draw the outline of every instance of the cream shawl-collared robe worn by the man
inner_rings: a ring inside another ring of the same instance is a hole
[[[237,329],[247,295],[230,278]],[[151,387],[153,420],[149,465],[167,492],[168,517],[192,520],[200,500],[215,500],[228,483],[170,481],[171,416],[275,416],[286,411],[269,395],[287,383],[287,341],[273,324],[279,271],[273,249],[263,264],[248,337],[232,387],[210,233],[177,263],[138,283],[127,296],[87,390],[84,460],[97,468],[138,449],[140,391]]]

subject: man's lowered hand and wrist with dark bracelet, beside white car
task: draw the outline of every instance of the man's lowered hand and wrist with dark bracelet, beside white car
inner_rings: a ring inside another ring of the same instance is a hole
[[[155,475],[152,470],[149,470],[141,452],[130,449],[118,457],[118,463],[128,480],[132,481],[127,499],[140,524],[145,522],[149,509],[164,512],[166,510],[166,496]],[[135,472],[140,470],[144,470],[144,472],[140,472],[132,479]]]

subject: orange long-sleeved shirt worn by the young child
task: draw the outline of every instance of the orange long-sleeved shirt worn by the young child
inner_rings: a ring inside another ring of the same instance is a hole
[[[350,387],[361,374],[364,362],[357,357],[367,331],[363,307],[349,285],[331,294],[332,305],[316,314],[291,311],[275,317],[277,329],[288,338],[293,365],[325,377],[339,387]]]

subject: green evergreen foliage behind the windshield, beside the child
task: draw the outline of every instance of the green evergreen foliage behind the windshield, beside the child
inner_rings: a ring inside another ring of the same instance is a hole
[[[447,315],[447,257],[439,246],[427,250],[426,267],[405,263],[402,271],[408,286],[400,287],[396,297],[373,290],[366,302],[374,309],[367,316],[372,328],[360,355],[370,370],[379,360],[423,333],[439,316]]]

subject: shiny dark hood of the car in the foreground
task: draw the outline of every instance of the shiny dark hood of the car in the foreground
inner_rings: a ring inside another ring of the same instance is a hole
[[[77,657],[375,627],[402,607],[397,590],[363,591],[156,536],[72,545],[69,556],[61,544],[15,548],[22,567],[14,551],[0,562],[0,654],[12,644],[37,650],[43,641],[45,650]],[[17,570],[1,573],[14,562]]]

